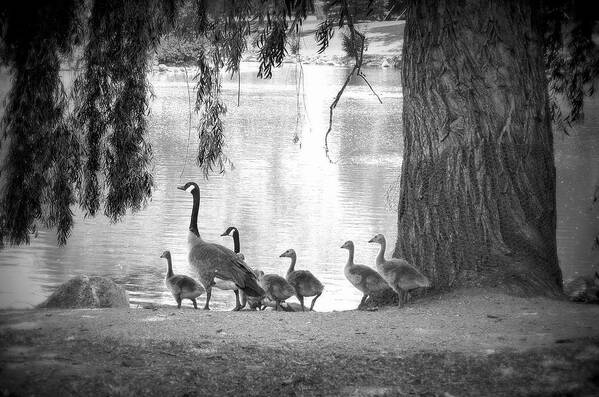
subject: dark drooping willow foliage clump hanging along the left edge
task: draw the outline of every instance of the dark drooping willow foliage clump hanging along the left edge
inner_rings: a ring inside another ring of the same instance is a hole
[[[11,244],[28,242],[40,224],[57,228],[59,241],[66,241],[80,158],[59,72],[62,57],[81,39],[84,2],[31,3],[0,8],[0,55],[12,73],[0,139],[0,230]]]

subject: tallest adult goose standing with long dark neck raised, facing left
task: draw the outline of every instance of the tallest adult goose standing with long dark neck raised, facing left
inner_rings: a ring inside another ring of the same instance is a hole
[[[210,297],[214,279],[232,281],[248,296],[262,296],[264,290],[258,285],[256,275],[235,252],[220,244],[204,241],[198,231],[198,212],[200,208],[200,188],[194,182],[187,182],[177,187],[193,196],[193,207],[187,245],[189,264],[197,271],[200,282],[206,288],[206,304],[204,310],[210,310]]]

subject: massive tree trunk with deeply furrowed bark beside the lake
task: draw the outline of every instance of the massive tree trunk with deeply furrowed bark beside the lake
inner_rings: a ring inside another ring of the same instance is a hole
[[[439,289],[558,294],[540,5],[410,3],[394,256]]]

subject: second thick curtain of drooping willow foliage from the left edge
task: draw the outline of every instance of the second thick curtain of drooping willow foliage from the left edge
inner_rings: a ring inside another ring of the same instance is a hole
[[[111,0],[93,4],[83,73],[75,83],[75,122],[87,154],[81,207],[113,221],[151,195],[147,142],[148,57],[174,19],[175,4]]]

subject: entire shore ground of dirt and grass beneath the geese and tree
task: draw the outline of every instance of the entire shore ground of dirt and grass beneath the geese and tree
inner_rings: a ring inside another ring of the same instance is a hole
[[[332,313],[0,312],[0,393],[599,395],[599,306],[484,291]]]

